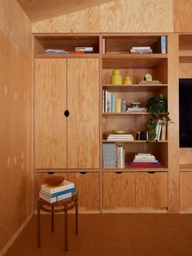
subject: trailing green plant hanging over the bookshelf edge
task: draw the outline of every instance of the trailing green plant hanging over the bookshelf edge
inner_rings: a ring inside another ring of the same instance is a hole
[[[163,94],[155,95],[148,99],[146,108],[150,115],[147,130],[149,132],[149,140],[151,141],[156,138],[156,126],[159,118],[165,117],[166,122],[171,121],[171,119],[168,117],[168,102]]]

